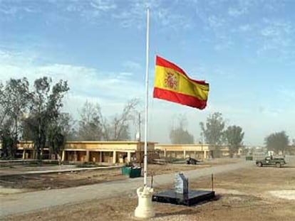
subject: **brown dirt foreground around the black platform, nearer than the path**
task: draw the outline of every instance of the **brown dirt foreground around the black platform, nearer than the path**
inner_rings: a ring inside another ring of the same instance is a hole
[[[160,186],[155,191],[172,188]],[[190,189],[210,189],[211,178],[190,180]],[[185,207],[153,203],[156,217],[150,220],[295,220],[295,161],[284,168],[252,166],[214,177],[216,198]],[[273,192],[276,191],[276,192]],[[136,220],[135,193],[117,198],[91,200],[76,205],[51,207],[5,220]]]

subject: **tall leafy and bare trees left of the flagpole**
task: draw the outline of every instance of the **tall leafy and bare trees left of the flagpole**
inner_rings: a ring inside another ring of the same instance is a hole
[[[80,119],[62,112],[68,82],[53,83],[50,77],[0,82],[1,158],[15,158],[19,141],[32,141],[36,158],[49,147],[59,154],[66,141],[124,141],[130,139],[130,121],[135,121],[139,99],[131,99],[120,114],[103,117],[99,104],[86,101],[79,110]]]

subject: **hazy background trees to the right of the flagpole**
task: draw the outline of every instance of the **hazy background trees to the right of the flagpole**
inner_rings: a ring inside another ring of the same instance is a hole
[[[172,144],[194,144],[194,136],[187,129],[187,119],[180,116],[177,126],[170,129],[170,141]],[[202,137],[206,144],[211,144],[214,148],[214,155],[218,156],[219,149],[222,145],[229,146],[229,156],[234,156],[240,147],[243,147],[244,131],[241,126],[230,125],[226,126],[225,120],[220,112],[209,114],[206,122],[200,122]],[[293,144],[290,144],[289,136],[285,131],[275,132],[266,136],[264,139],[266,149],[275,153],[291,153],[295,149],[295,139]]]

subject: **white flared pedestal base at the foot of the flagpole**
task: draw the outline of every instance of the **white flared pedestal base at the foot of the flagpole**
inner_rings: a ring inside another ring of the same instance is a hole
[[[135,209],[135,217],[150,218],[155,217],[155,210],[152,207],[152,193],[154,190],[147,186],[140,187],[138,193],[138,207]]]

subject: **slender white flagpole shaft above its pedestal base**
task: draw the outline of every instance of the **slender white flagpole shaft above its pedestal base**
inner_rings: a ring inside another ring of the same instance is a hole
[[[143,163],[143,185],[148,183],[148,55],[149,55],[150,9],[147,9],[147,36],[145,55],[145,154]]]

